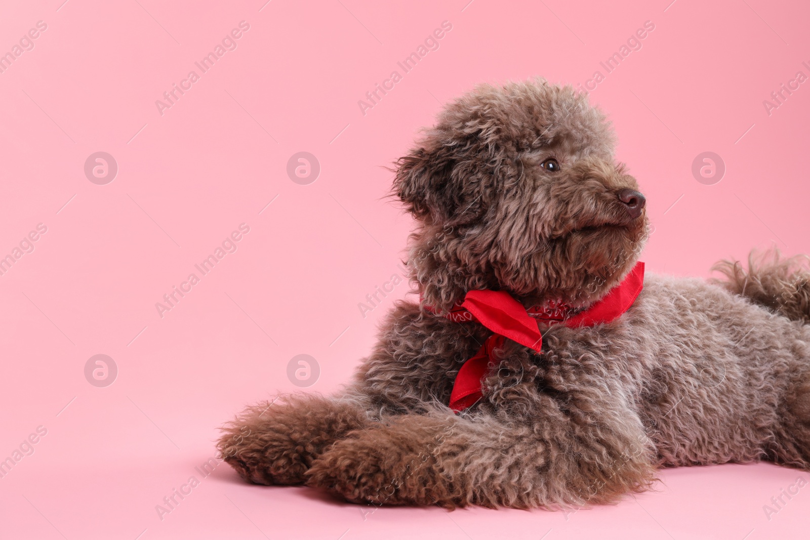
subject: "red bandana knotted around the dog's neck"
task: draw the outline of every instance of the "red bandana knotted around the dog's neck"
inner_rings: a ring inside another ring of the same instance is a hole
[[[494,334],[458,370],[450,394],[450,409],[455,412],[467,409],[484,395],[481,390],[483,379],[495,367],[492,351],[503,347],[506,338],[539,352],[543,335],[540,334],[538,321],[547,325],[561,323],[569,328],[601,325],[625,313],[643,286],[644,263],[637,262],[624,281],[590,308],[571,317],[568,317],[568,309],[560,304],[527,309],[506,291],[467,291],[463,303],[450,310],[445,317],[456,322],[478,321]]]

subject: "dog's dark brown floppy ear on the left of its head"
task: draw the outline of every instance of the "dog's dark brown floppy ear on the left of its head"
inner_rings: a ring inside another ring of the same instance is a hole
[[[417,219],[454,226],[480,217],[483,206],[480,194],[475,194],[480,188],[476,172],[465,172],[469,167],[458,163],[450,151],[418,147],[396,165],[393,192]]]

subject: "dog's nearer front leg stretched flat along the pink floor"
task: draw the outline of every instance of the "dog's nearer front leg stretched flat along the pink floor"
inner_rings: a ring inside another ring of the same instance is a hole
[[[655,474],[650,440],[633,413],[626,414],[610,423],[616,429],[573,417],[532,423],[529,417],[463,418],[446,409],[402,415],[349,433],[305,475],[310,486],[375,505],[610,502],[642,491]]]

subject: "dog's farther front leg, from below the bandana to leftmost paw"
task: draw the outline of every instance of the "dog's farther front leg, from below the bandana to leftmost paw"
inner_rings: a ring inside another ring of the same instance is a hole
[[[480,330],[470,332],[442,317],[423,317],[416,304],[399,304],[360,365],[356,385],[338,397],[298,393],[248,407],[223,428],[220,455],[251,482],[303,483],[313,460],[347,432],[381,415],[421,410],[439,398],[446,402],[453,385],[446,374],[458,371],[460,360],[484,341]]]

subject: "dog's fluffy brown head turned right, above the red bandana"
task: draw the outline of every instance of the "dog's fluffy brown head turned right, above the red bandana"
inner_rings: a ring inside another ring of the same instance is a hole
[[[648,222],[614,144],[586,96],[543,79],[447,105],[394,180],[420,222],[408,262],[425,304],[443,312],[493,289],[585,305],[619,283]]]

